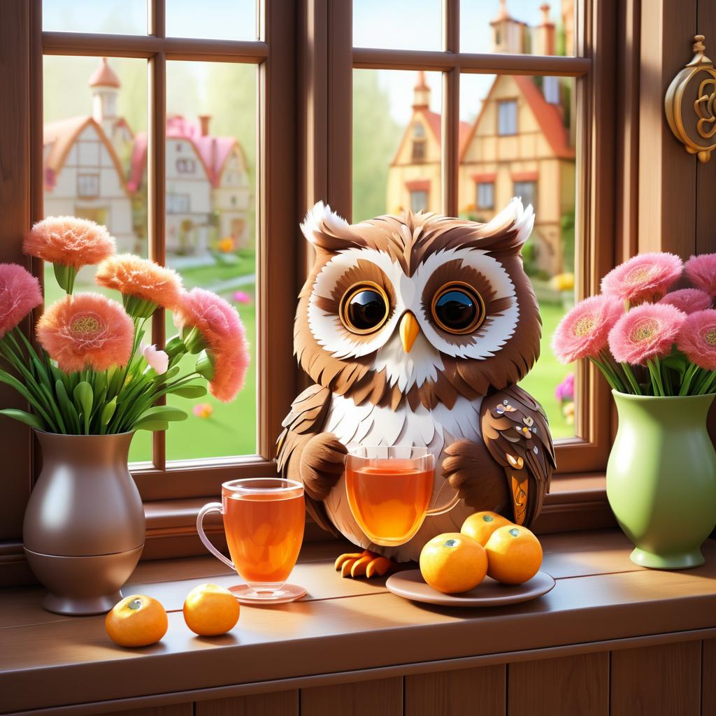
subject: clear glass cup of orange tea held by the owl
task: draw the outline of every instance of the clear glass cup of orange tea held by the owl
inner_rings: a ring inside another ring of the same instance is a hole
[[[460,501],[429,508],[435,458],[411,445],[355,445],[346,455],[346,493],[355,521],[374,544],[390,547],[415,536],[426,517],[442,515]]]

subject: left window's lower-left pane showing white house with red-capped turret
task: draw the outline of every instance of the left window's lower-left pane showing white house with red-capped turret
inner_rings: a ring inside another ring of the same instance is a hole
[[[137,142],[147,131],[147,61],[112,57],[43,58],[44,216],[79,216],[107,226],[117,251],[147,256],[147,183],[137,181]],[[64,295],[45,264],[45,301]],[[95,284],[88,266],[76,291],[116,291]],[[130,460],[151,459],[151,435],[140,430]]]

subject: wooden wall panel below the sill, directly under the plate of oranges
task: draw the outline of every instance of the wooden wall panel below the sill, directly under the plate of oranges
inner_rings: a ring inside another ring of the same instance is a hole
[[[405,677],[405,716],[503,716],[506,667]]]

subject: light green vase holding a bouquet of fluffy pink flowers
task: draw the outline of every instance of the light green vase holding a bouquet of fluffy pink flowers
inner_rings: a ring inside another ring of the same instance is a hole
[[[689,288],[673,291],[685,278]],[[706,430],[716,393],[716,254],[685,264],[645,253],[617,266],[601,294],[569,311],[553,337],[563,363],[589,359],[609,382],[619,430],[606,492],[642,566],[703,563],[716,524],[716,453]]]

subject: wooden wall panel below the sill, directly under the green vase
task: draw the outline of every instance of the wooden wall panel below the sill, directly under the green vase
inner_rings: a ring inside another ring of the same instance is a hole
[[[612,652],[610,697],[611,716],[697,716],[701,702],[701,642]]]

